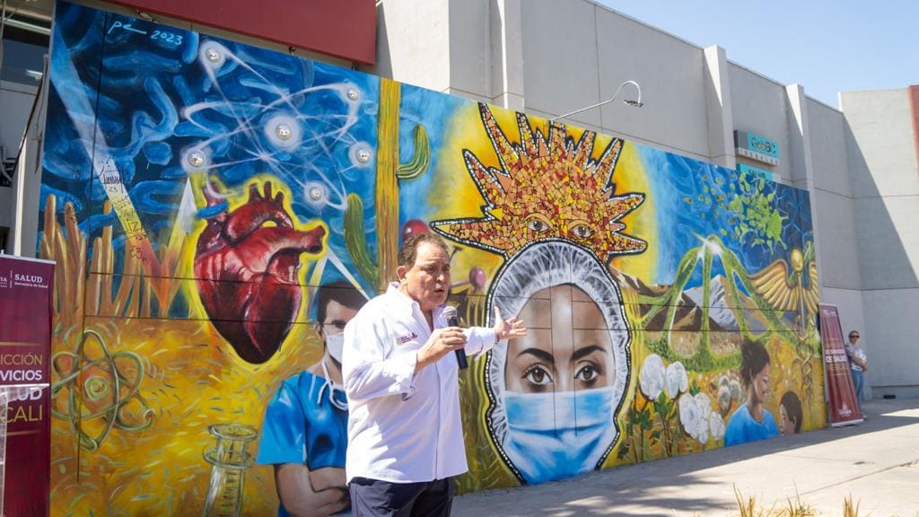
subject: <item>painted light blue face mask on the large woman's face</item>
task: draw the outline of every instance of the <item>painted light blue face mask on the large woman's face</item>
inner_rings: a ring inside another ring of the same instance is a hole
[[[596,468],[616,438],[613,388],[505,393],[505,453],[528,484]]]

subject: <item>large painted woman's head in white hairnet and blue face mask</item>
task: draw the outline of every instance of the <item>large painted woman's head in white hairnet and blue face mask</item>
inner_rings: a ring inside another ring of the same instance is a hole
[[[630,331],[607,268],[581,247],[538,243],[499,272],[490,302],[528,322],[488,363],[487,422],[505,462],[528,484],[600,468],[630,375]]]

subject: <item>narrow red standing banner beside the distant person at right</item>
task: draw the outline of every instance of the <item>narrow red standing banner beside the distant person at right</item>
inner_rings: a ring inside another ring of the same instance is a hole
[[[843,328],[835,305],[820,305],[820,337],[823,342],[823,375],[830,405],[830,425],[840,426],[862,421],[852,384],[849,356],[845,353]]]

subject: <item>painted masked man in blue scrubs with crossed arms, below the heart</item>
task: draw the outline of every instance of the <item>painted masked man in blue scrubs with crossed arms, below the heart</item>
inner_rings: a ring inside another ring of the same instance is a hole
[[[278,515],[332,515],[350,507],[342,330],[364,302],[344,281],[319,288],[315,331],[323,357],[284,380],[268,403],[256,463],[275,467]]]

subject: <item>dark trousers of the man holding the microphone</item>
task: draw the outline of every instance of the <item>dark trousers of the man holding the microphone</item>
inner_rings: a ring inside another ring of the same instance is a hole
[[[355,477],[348,485],[355,517],[449,517],[453,478],[391,483]]]

